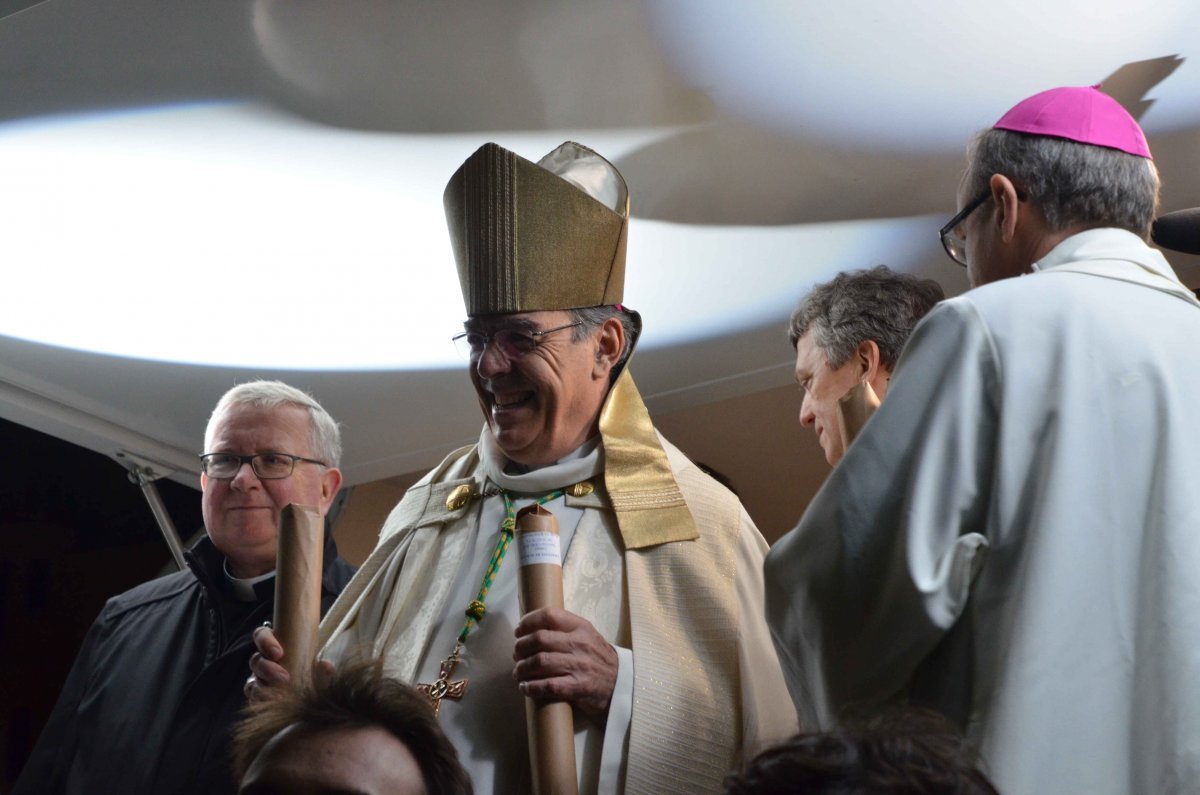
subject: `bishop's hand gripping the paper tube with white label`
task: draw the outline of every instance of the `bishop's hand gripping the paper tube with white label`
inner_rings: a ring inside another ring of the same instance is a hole
[[[617,686],[617,650],[592,623],[559,608],[528,612],[517,624],[512,679],[539,701],[568,701],[599,725]]]

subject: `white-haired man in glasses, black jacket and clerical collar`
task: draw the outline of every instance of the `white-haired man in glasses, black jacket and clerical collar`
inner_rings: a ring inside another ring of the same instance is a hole
[[[104,605],[14,793],[233,793],[229,730],[251,630],[271,617],[288,503],[324,515],[342,483],[337,424],[277,381],[224,394],[200,456],[205,537],[187,569]],[[326,536],[322,608],[353,567]]]

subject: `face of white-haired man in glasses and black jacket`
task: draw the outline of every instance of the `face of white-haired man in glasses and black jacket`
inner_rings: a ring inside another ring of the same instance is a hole
[[[217,418],[205,453],[286,453],[317,458],[311,442],[308,410],[295,404],[260,408],[233,404]],[[287,478],[262,480],[250,464],[229,479],[200,476],[204,527],[229,561],[235,576],[250,578],[275,568],[280,513],[288,503],[314,506],[322,515],[341,485],[337,470],[296,461]]]

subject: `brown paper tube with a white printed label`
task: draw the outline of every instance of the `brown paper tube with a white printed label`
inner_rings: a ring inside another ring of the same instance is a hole
[[[538,504],[517,512],[522,615],[563,606],[563,554],[554,514]],[[529,766],[535,795],[576,795],[575,717],[565,701],[526,699]]]

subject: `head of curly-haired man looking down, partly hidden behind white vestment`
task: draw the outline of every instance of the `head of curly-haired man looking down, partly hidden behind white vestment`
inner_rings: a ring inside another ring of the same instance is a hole
[[[846,404],[878,406],[912,329],[944,297],[931,279],[876,265],[817,285],[792,312],[787,336],[803,394],[800,425],[812,428],[829,466],[850,444],[842,438]],[[853,395],[856,388],[863,394]]]

